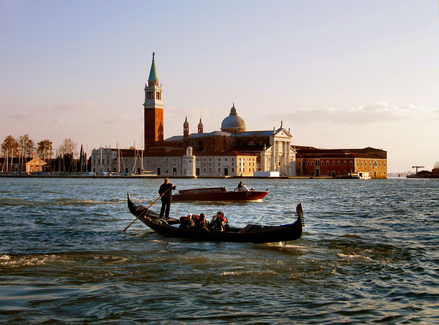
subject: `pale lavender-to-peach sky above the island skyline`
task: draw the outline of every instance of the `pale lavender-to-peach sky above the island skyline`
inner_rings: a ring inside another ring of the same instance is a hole
[[[0,141],[143,146],[152,53],[165,139],[247,130],[439,161],[439,8],[427,0],[0,0]]]

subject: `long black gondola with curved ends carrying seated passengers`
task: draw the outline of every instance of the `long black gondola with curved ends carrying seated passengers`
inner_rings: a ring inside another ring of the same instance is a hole
[[[302,204],[296,207],[297,220],[294,224],[282,226],[259,226],[248,224],[244,228],[230,227],[226,232],[211,232],[179,228],[178,219],[161,219],[157,213],[142,205],[135,205],[128,195],[130,212],[152,230],[171,237],[183,237],[199,241],[232,241],[235,243],[276,243],[279,241],[294,241],[302,236],[305,226]]]

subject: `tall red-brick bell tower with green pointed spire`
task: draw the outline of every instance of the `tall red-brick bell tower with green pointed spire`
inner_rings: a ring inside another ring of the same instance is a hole
[[[152,53],[150,77],[145,84],[145,150],[163,141],[163,89],[158,84],[155,54]]]

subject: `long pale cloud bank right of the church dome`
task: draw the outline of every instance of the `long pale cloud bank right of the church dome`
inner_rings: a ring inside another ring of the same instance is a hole
[[[337,110],[336,108],[300,109],[292,112],[276,112],[267,117],[272,121],[291,120],[301,123],[332,122],[336,124],[364,125],[394,122],[408,119],[438,119],[439,110],[413,105],[396,106],[380,101],[375,104]]]

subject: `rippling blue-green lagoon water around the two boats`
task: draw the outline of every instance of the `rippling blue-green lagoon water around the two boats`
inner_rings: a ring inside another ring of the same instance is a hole
[[[177,189],[237,180],[171,179]],[[262,202],[174,203],[298,241],[171,239],[134,219],[162,180],[0,178],[0,322],[437,324],[439,181],[245,180]],[[158,211],[160,203],[152,206]]]

